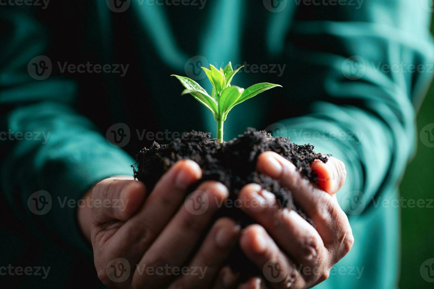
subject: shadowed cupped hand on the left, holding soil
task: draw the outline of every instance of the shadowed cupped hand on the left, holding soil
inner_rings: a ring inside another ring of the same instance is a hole
[[[102,283],[110,288],[225,288],[224,282],[233,282],[222,266],[239,239],[234,221],[217,220],[197,249],[218,204],[228,197],[224,185],[208,181],[186,198],[187,188],[200,178],[200,167],[183,160],[148,195],[143,183],[130,179],[95,185],[92,199],[126,204],[92,208],[90,239]],[[196,213],[197,200],[216,201]]]

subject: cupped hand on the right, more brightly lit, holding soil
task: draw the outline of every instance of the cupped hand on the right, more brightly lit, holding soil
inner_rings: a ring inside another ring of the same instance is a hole
[[[280,208],[276,197],[260,185],[246,185],[239,195],[242,210],[257,223],[242,231],[240,247],[272,288],[315,286],[328,278],[354,243],[348,218],[334,195],[345,182],[345,166],[329,157],[327,163],[316,160],[311,168],[318,175],[317,185],[277,153],[262,153],[257,162],[260,172],[292,192],[316,228],[295,211]],[[254,282],[261,283],[258,278]]]

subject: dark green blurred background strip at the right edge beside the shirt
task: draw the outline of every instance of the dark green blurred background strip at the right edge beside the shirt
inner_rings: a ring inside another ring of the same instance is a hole
[[[431,31],[434,33],[432,24]],[[434,123],[434,84],[431,84],[417,116],[417,154],[408,164],[400,185],[401,196],[406,199],[434,198],[434,148],[425,146],[419,137],[421,129],[429,123]],[[434,288],[434,283],[427,283],[419,273],[421,264],[434,257],[434,208],[402,208],[401,221],[399,285],[401,288]]]

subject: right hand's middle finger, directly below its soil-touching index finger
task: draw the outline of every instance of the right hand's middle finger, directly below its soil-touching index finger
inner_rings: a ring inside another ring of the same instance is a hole
[[[257,184],[245,185],[238,198],[242,200],[241,210],[261,224],[297,264],[308,268],[325,267],[327,250],[321,236],[296,211],[281,208],[276,196]],[[306,279],[317,277],[311,274]]]

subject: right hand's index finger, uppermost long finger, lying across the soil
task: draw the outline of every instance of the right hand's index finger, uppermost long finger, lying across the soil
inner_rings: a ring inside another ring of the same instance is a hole
[[[262,153],[258,169],[291,190],[294,200],[312,219],[332,261],[340,260],[352,247],[354,237],[348,218],[335,196],[324,194],[303,177],[293,163],[277,153]]]

